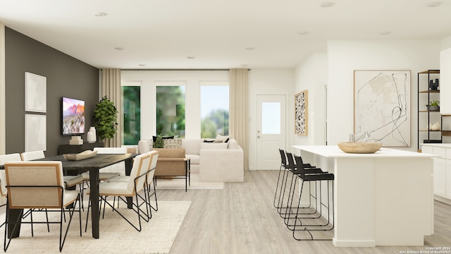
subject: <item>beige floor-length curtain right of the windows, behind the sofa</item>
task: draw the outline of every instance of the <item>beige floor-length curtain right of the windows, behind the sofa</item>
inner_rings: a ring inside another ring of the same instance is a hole
[[[229,135],[232,135],[245,152],[245,170],[249,170],[248,152],[248,69],[230,69],[230,95],[229,95]]]

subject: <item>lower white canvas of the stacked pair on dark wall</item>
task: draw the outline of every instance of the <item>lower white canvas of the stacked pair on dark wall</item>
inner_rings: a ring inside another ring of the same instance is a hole
[[[47,118],[25,114],[25,152],[47,150]]]

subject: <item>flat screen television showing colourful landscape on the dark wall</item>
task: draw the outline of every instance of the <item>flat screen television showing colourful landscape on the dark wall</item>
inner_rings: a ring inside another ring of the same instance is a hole
[[[63,97],[63,135],[85,133],[85,101]]]

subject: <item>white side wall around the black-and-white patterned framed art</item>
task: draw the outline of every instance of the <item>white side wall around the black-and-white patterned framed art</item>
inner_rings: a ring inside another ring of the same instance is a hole
[[[295,135],[290,147],[291,145],[326,145],[327,77],[326,52],[311,54],[295,69],[295,94],[304,90],[308,91],[308,128],[307,135]]]

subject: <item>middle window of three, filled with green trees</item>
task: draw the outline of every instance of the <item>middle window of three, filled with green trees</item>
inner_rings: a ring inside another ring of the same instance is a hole
[[[185,138],[185,83],[156,83],[156,134]]]

